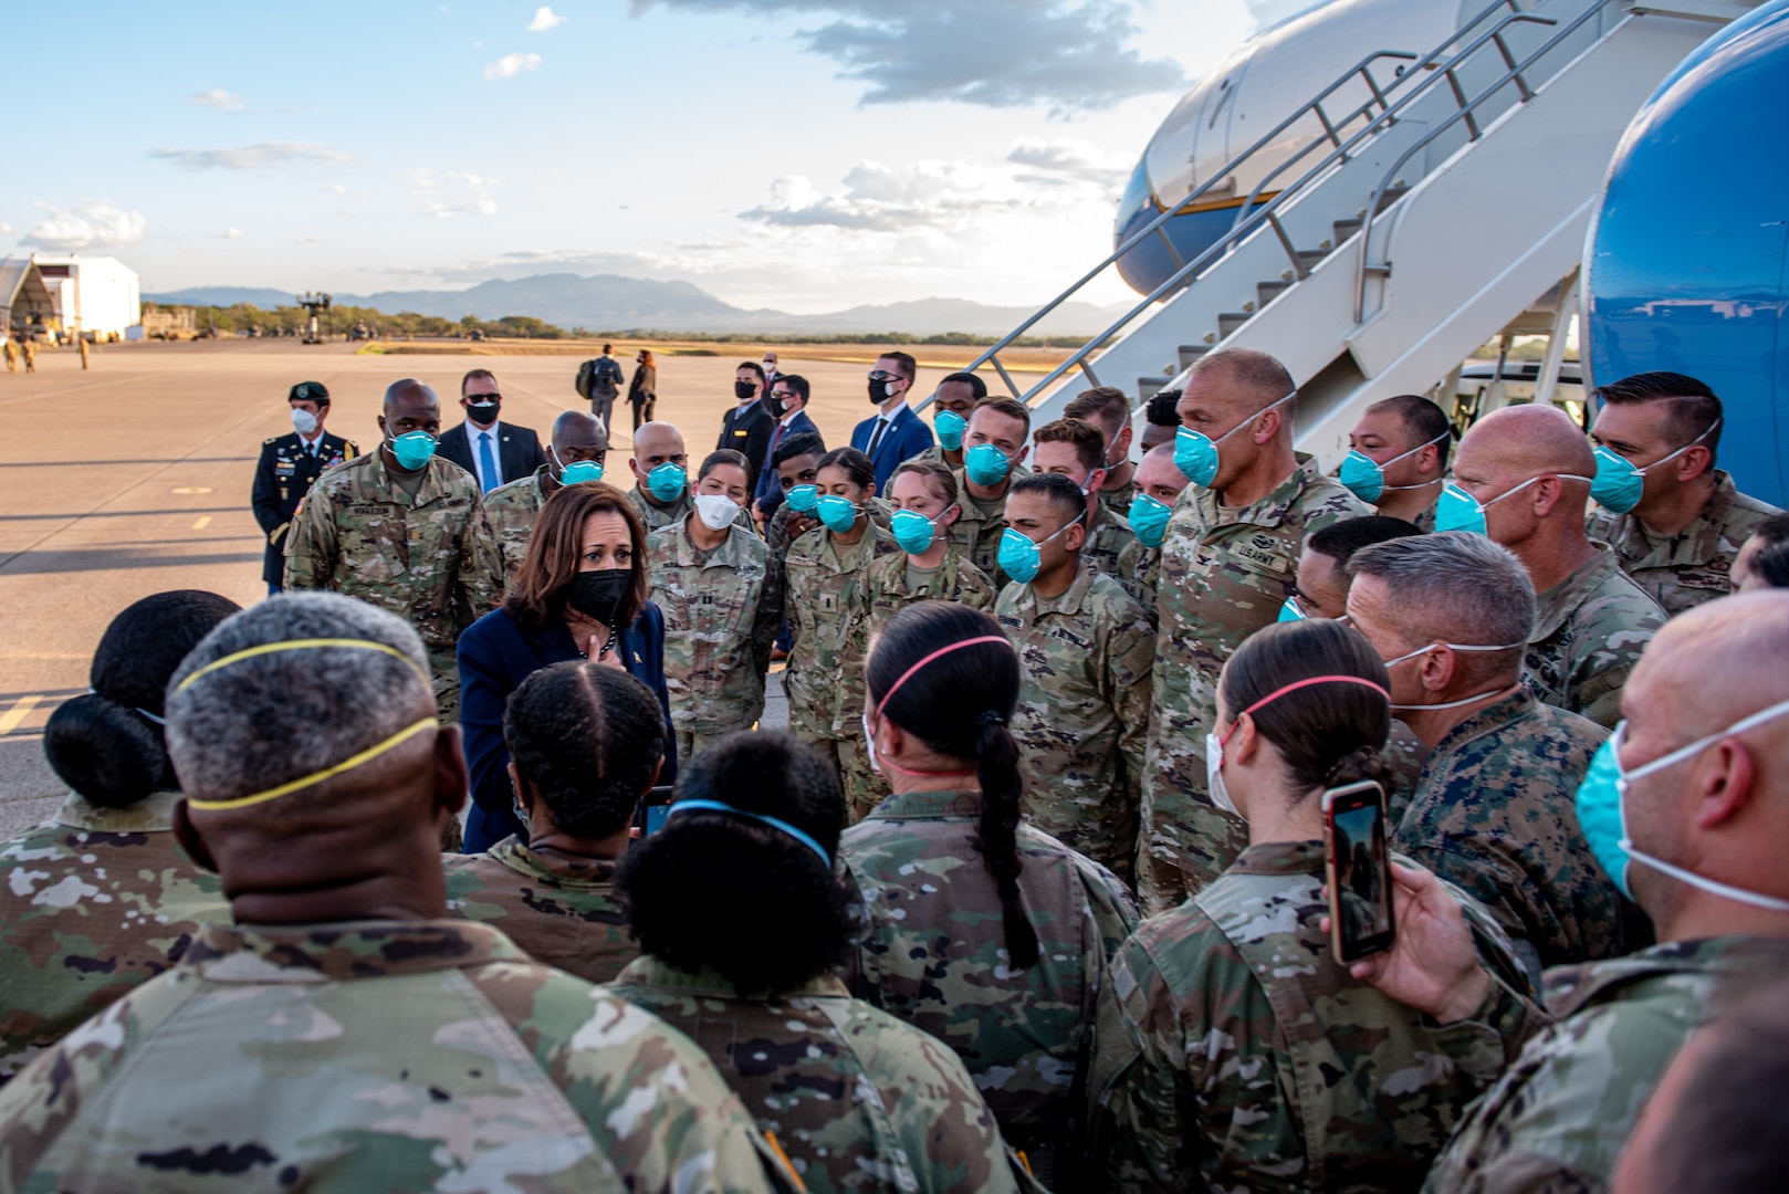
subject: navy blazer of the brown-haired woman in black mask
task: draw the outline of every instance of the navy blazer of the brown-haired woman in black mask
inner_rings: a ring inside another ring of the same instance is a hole
[[[651,601],[632,627],[621,632],[615,650],[628,675],[658,693],[666,714],[666,766],[660,784],[676,780],[676,736],[671,734],[671,695],[666,691],[666,618]],[[465,852],[503,841],[512,832],[528,836],[515,816],[510,786],[510,746],[503,741],[503,711],[510,693],[531,673],[553,664],[583,659],[564,625],[530,634],[504,609],[494,609],[460,635],[460,732],[465,761],[472,770],[472,813],[465,823]]]

